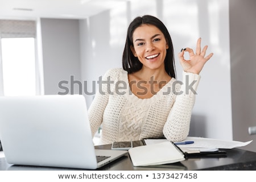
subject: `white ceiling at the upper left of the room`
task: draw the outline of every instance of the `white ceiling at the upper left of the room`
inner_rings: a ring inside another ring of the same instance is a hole
[[[0,0],[0,19],[82,19],[129,0]]]

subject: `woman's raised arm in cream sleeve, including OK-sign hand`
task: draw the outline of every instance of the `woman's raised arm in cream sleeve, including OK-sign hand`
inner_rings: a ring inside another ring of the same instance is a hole
[[[199,38],[196,43],[196,53],[192,48],[181,49],[179,53],[180,64],[183,68],[183,85],[181,85],[180,94],[176,93],[175,104],[172,106],[164,125],[163,134],[168,140],[174,142],[183,140],[189,133],[196,88],[200,79],[199,73],[204,64],[213,56],[213,53],[205,56],[207,48],[208,46],[204,46],[201,50],[201,38]],[[188,52],[189,60],[184,59],[185,52]]]

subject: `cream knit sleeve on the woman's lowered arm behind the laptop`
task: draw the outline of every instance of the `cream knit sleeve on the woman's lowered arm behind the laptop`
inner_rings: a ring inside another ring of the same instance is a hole
[[[111,71],[105,73],[103,77],[100,77],[98,81],[98,90],[88,109],[88,116],[90,121],[90,129],[92,131],[92,136],[96,133],[98,128],[101,126],[103,121],[103,114],[106,105],[109,101],[109,86]]]

